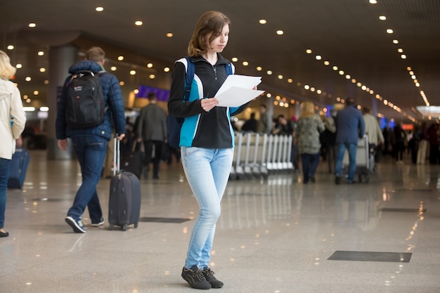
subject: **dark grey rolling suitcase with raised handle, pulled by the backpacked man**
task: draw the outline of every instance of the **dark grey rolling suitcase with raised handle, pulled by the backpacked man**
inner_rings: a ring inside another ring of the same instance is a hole
[[[141,211],[141,183],[133,173],[119,169],[120,151],[119,141],[116,138],[113,159],[116,162],[116,167],[110,181],[109,228],[113,230],[113,226],[120,226],[125,231],[131,224],[137,228]]]

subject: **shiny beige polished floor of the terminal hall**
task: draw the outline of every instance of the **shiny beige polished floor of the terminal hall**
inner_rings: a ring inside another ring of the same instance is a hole
[[[202,180],[202,178],[200,178]],[[31,151],[23,190],[8,190],[0,293],[194,292],[181,278],[198,204],[180,164],[142,179],[141,222],[127,231],[64,217],[81,181],[75,161]],[[109,179],[98,185],[108,213]],[[440,165],[384,157],[370,183],[300,174],[230,181],[211,267],[216,292],[440,292]]]

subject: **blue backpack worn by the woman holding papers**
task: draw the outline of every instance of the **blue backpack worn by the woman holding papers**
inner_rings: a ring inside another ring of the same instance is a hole
[[[191,61],[191,58],[186,56],[188,66],[186,68],[186,82],[185,82],[185,96],[184,102],[188,102],[190,98],[191,84],[194,79],[195,65]],[[233,74],[232,65],[230,63],[225,64],[226,75]],[[168,144],[173,148],[180,148],[180,131],[185,118],[175,117],[173,115],[167,116],[167,130],[168,130]]]

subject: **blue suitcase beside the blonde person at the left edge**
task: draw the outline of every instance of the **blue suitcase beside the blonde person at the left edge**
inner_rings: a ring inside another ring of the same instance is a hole
[[[16,148],[9,165],[8,188],[22,188],[25,182],[29,152],[25,148]]]

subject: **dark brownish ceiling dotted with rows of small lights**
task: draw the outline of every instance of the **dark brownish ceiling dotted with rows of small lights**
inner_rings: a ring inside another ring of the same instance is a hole
[[[96,6],[103,6],[104,11],[96,12]],[[48,73],[39,72],[39,68],[48,67],[49,45],[63,44],[76,36],[75,44],[82,50],[91,44],[103,46],[109,65],[117,64],[117,56],[124,55],[124,66],[143,72],[130,77],[129,70],[118,70],[117,77],[126,86],[167,87],[171,73],[162,68],[172,67],[174,60],[186,54],[195,22],[209,10],[231,18],[230,39],[223,55],[238,58],[238,74],[261,75],[259,87],[273,95],[313,100],[320,106],[337,103],[338,97],[353,96],[358,104],[377,108],[378,113],[402,122],[409,122],[408,117],[423,119],[415,110],[425,105],[420,90],[430,105],[440,105],[438,0],[377,0],[377,4],[368,0],[2,1],[0,48],[8,52],[13,63],[23,64],[16,76],[18,86],[30,96],[38,89],[40,94],[34,99],[40,103],[47,96],[44,80]],[[380,15],[387,20],[380,20]],[[260,25],[260,19],[266,19],[267,24]],[[136,27],[136,20],[143,25]],[[29,22],[37,27],[31,29]],[[394,33],[387,34],[387,29]],[[277,30],[284,34],[276,34]],[[174,37],[166,37],[168,32]],[[393,44],[394,39],[399,44]],[[13,51],[6,49],[9,44],[15,46]],[[307,54],[308,48],[313,53]],[[398,48],[403,49],[406,60]],[[48,53],[39,57],[39,50]],[[322,60],[316,60],[316,55]],[[146,69],[145,64],[152,60],[155,67]],[[330,65],[325,66],[324,60]],[[249,65],[242,65],[242,61]],[[337,71],[332,70],[334,65]],[[124,66],[119,64],[119,68]],[[263,70],[257,71],[257,66]],[[408,66],[420,87],[415,86]],[[156,74],[155,80],[149,79],[151,72]],[[346,74],[373,94],[346,79]],[[31,82],[24,82],[27,76],[32,76]],[[306,85],[316,91],[304,89]],[[384,100],[401,112],[384,105]]]

